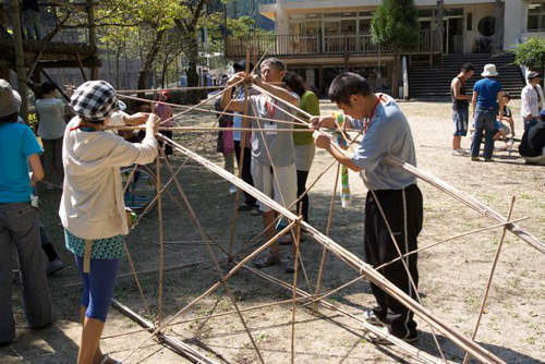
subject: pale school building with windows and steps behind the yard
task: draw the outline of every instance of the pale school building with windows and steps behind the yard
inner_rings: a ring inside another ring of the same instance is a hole
[[[301,74],[323,95],[344,70],[365,75],[375,88],[387,89],[392,49],[371,41],[371,20],[378,3],[379,0],[277,0],[262,4],[259,13],[275,22],[275,34],[228,37],[227,57],[244,58],[249,46],[258,54],[267,52],[284,61],[289,70]],[[528,37],[545,37],[545,0],[445,0],[443,4],[415,0],[415,5],[420,43],[416,49],[403,53],[410,77],[419,69],[459,68],[463,60],[481,66],[489,61],[494,47],[507,50]],[[511,60],[496,59],[506,72]],[[520,78],[517,71],[509,72]]]

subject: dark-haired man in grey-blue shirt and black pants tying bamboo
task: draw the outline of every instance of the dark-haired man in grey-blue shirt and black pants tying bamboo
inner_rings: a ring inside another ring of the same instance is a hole
[[[341,149],[329,135],[319,131],[320,128],[336,128],[335,118],[313,118],[311,123],[316,129],[315,144],[364,177],[365,186],[370,190],[365,201],[365,262],[378,267],[399,257],[396,244],[401,254],[417,248],[417,236],[423,222],[423,202],[416,178],[385,161],[386,156],[392,156],[416,166],[411,129],[393,98],[373,93],[367,80],[359,74],[346,72],[338,75],[329,86],[329,98],[344,111],[343,126],[359,129],[364,136],[353,153]],[[386,219],[383,218],[379,205]],[[396,243],[391,240],[388,226]],[[416,262],[417,254],[404,258],[410,277],[417,287]],[[403,262],[398,260],[378,271],[409,296],[416,298]],[[385,331],[403,341],[416,341],[419,333],[413,313],[378,286],[371,283],[371,288],[377,305],[365,312],[364,318],[373,325],[383,326]],[[376,343],[390,343],[372,333],[368,333],[367,338]]]

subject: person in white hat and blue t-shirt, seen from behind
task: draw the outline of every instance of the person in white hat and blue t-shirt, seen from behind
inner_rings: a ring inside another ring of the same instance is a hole
[[[471,141],[471,160],[481,160],[481,158],[479,158],[479,153],[484,133],[484,160],[494,161],[494,159],[492,159],[492,154],[494,151],[496,117],[499,119],[504,117],[502,88],[501,83],[496,80],[498,76],[496,65],[486,64],[481,76],[483,78],[477,81],[473,86],[473,97],[471,99],[475,124],[475,133],[473,133]]]

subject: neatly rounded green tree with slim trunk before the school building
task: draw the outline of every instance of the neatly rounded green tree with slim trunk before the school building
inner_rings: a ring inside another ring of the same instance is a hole
[[[400,52],[414,49],[419,43],[417,17],[413,0],[383,0],[371,21],[373,41],[393,48],[391,75],[393,97],[398,96]]]

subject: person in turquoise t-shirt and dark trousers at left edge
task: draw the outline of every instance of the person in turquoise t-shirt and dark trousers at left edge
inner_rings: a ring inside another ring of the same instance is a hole
[[[44,178],[41,147],[32,130],[17,123],[20,106],[21,96],[5,80],[0,80],[0,343],[15,338],[11,305],[13,248],[19,257],[28,325],[40,328],[51,323],[51,299],[33,195],[34,184]]]

